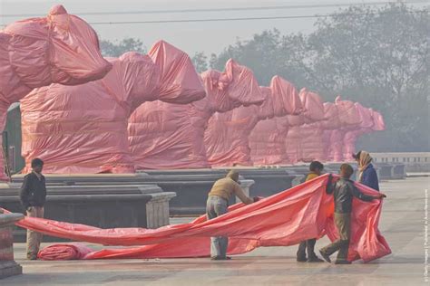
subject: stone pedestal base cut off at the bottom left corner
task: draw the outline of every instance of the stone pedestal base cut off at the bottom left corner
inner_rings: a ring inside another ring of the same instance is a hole
[[[0,279],[23,273],[21,265],[14,261],[12,235],[13,224],[23,218],[20,214],[0,214]]]

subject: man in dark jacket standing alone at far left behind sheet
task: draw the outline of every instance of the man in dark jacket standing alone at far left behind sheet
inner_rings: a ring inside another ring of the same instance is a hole
[[[33,171],[24,176],[23,186],[21,187],[21,204],[27,216],[44,217],[44,202],[46,201],[46,185],[42,170],[44,161],[35,158],[32,161]],[[36,260],[39,253],[42,234],[27,230],[27,259]]]

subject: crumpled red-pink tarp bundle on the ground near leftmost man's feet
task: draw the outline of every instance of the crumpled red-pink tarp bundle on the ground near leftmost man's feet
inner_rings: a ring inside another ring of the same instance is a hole
[[[37,254],[37,258],[47,261],[79,260],[93,250],[83,243],[62,243],[45,247]]]

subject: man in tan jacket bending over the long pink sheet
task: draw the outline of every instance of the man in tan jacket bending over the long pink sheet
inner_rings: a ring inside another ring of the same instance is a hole
[[[238,184],[239,173],[231,170],[226,177],[219,179],[213,184],[208,195],[206,204],[206,215],[208,220],[228,212],[229,200],[232,195],[237,195],[244,204],[252,204],[258,198],[249,198],[245,195]],[[210,259],[211,260],[230,260],[227,256],[229,238],[224,236],[210,237]]]

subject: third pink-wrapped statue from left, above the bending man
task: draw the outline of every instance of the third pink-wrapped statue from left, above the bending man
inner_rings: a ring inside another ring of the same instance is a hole
[[[210,167],[203,141],[210,117],[264,100],[252,71],[232,60],[224,72],[203,72],[201,81],[207,94],[202,100],[188,105],[148,102],[133,113],[129,141],[138,168]]]

